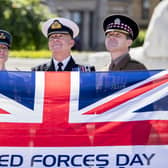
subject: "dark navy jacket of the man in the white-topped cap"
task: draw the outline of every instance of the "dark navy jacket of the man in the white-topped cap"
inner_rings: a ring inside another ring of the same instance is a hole
[[[50,62],[33,67],[31,70],[32,71],[56,71],[54,62],[52,59]],[[91,72],[91,71],[95,71],[95,67],[76,64],[74,59],[71,57],[64,71]]]

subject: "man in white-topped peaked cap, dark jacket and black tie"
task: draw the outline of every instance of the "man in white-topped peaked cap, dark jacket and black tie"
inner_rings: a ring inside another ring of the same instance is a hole
[[[49,62],[33,67],[33,71],[95,71],[94,66],[79,65],[71,56],[79,34],[78,25],[66,18],[52,18],[42,25],[42,33],[48,38],[48,47],[52,53]]]

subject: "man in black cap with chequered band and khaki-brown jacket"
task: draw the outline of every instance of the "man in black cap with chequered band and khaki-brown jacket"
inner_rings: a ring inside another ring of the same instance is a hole
[[[145,65],[131,58],[129,48],[139,34],[138,25],[125,15],[111,15],[103,22],[105,46],[111,54],[109,71],[146,70]]]

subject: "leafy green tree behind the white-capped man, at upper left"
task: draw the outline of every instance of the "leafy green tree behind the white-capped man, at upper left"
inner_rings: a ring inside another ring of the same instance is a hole
[[[0,11],[0,29],[12,34],[12,49],[47,48],[40,23],[51,17],[51,14],[40,0],[1,0]]]

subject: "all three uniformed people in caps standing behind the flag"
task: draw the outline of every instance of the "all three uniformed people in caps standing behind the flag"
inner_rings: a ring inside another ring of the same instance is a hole
[[[103,29],[105,46],[111,54],[109,71],[146,69],[142,63],[129,55],[129,48],[139,33],[138,25],[134,20],[125,15],[111,15],[105,18]],[[79,34],[79,27],[75,22],[67,18],[52,18],[44,22],[42,33],[48,38],[51,60],[31,68],[32,71],[96,71],[94,66],[77,64],[71,56],[74,39]],[[0,30],[0,70],[5,70],[11,43],[11,34]]]

